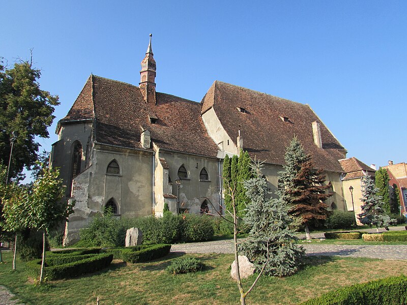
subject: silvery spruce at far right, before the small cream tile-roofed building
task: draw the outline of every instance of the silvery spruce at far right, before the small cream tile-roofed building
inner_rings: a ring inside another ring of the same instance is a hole
[[[379,228],[386,228],[388,230],[390,224],[395,222],[395,219],[390,219],[386,215],[383,208],[383,201],[380,195],[377,195],[379,189],[374,186],[374,180],[371,176],[362,177],[362,198],[361,206],[362,212],[358,215],[360,222],[368,226],[376,226],[377,232]]]

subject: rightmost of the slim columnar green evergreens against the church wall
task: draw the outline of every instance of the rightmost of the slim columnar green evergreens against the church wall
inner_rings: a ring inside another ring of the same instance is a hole
[[[245,180],[250,179],[253,175],[250,170],[250,157],[249,153],[247,151],[240,151],[240,156],[238,160],[238,184],[236,187],[236,204],[238,207],[238,216],[243,217],[246,208],[246,204],[249,201],[249,199],[246,196],[246,190],[243,185],[243,182]]]

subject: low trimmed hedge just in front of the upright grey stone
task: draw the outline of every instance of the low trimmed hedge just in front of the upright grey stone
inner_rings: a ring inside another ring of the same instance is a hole
[[[114,259],[121,259],[128,263],[147,262],[166,256],[171,245],[135,246],[126,248],[106,249],[106,253],[113,255]]]

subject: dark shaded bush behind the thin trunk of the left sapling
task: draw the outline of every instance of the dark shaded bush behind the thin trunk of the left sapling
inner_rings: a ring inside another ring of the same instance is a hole
[[[23,261],[40,258],[42,255],[42,232],[25,229],[17,234],[17,254]],[[49,243],[45,242],[45,249],[48,251]]]

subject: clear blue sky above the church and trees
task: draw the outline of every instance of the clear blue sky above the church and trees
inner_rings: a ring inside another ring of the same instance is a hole
[[[28,59],[61,105],[91,73],[138,85],[153,34],[157,91],[199,102],[214,80],[309,104],[377,167],[406,162],[407,1],[2,1],[0,56]]]

